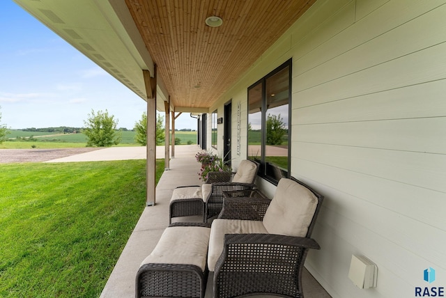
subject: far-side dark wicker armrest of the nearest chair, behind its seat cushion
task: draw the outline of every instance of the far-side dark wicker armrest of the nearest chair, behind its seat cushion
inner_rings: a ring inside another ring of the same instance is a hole
[[[224,198],[218,218],[262,221],[270,203],[269,198]]]

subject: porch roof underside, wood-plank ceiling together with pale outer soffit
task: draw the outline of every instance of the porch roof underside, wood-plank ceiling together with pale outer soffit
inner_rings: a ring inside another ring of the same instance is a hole
[[[199,113],[316,0],[14,1],[144,100],[153,94],[143,71],[153,77],[156,63],[157,109],[169,102],[174,111]],[[206,26],[212,15],[222,26]]]

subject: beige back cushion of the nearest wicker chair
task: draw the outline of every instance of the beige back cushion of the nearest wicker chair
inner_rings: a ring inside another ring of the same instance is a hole
[[[282,178],[263,217],[263,226],[271,234],[305,237],[317,205],[318,199],[307,187]]]

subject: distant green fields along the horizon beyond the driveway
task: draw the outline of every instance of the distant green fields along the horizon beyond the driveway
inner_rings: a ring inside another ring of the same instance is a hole
[[[136,132],[122,132],[122,140],[118,146],[141,146],[134,141]],[[15,138],[29,138],[33,141],[15,141]],[[180,145],[197,143],[197,132],[175,132],[175,137],[180,139]],[[8,134],[10,141],[0,144],[0,149],[26,149],[26,148],[80,148],[86,147],[85,134],[60,134],[57,132],[23,132],[22,130],[11,130]],[[162,143],[164,145],[164,142]]]

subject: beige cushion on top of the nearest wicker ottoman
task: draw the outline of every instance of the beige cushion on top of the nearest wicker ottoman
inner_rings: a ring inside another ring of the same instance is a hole
[[[152,253],[141,265],[190,264],[204,272],[208,253],[210,228],[198,226],[176,226],[166,228]]]

